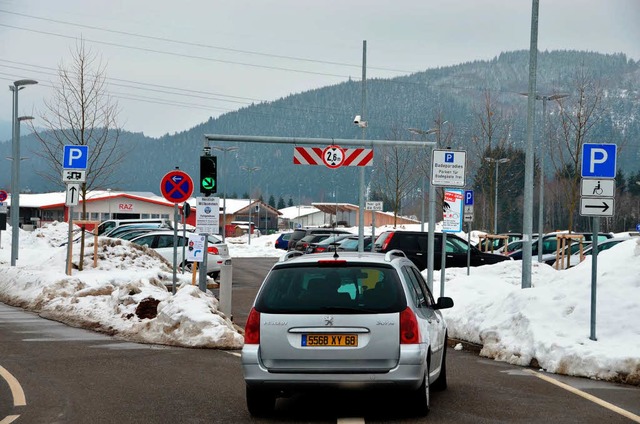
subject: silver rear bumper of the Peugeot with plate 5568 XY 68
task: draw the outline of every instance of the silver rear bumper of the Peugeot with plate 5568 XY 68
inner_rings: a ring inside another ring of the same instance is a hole
[[[260,360],[257,345],[242,349],[242,368],[248,386],[274,390],[301,390],[333,387],[339,389],[414,390],[420,387],[427,368],[425,345],[406,345],[400,350],[400,360],[389,370],[279,370],[267,369]]]

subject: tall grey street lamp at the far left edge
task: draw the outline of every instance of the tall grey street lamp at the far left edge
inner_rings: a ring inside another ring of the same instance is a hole
[[[11,163],[11,266],[16,265],[18,259],[18,243],[20,236],[20,121],[33,119],[32,116],[18,117],[18,91],[24,86],[37,84],[38,81],[24,79],[14,81],[9,86],[13,92],[13,120],[12,125],[12,163]]]

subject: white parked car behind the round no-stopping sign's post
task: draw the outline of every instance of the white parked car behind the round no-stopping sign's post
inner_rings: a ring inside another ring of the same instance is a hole
[[[139,235],[131,240],[140,246],[147,246],[158,252],[169,263],[173,263],[173,231],[153,231],[150,233]],[[178,266],[184,267],[185,270],[191,270],[192,264],[182,256],[182,246],[187,246],[188,237],[183,237],[182,232],[178,232]],[[210,234],[208,236],[207,246],[207,275],[218,278],[220,269],[225,261],[230,261],[229,248],[217,236]]]

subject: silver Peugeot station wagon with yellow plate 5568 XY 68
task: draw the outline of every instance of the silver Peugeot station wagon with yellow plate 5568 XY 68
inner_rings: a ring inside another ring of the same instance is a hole
[[[406,392],[426,414],[447,387],[447,326],[420,271],[400,251],[302,255],[276,263],[245,327],[242,368],[252,415],[304,390]]]

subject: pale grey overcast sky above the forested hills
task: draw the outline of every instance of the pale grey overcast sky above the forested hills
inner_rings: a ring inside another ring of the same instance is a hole
[[[120,123],[158,137],[251,102],[527,49],[531,0],[0,0],[0,79],[41,114],[83,37],[107,65]],[[540,0],[540,50],[640,60],[640,1]],[[0,121],[11,121],[8,89]],[[352,117],[345,117],[350,120]],[[37,124],[36,124],[37,125]]]

